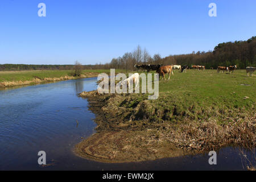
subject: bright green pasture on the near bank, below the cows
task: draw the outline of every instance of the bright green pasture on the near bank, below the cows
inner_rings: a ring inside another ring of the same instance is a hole
[[[179,105],[180,111],[191,110],[191,107],[198,113],[217,109],[228,117],[232,109],[250,111],[254,108],[255,81],[255,77],[246,76],[245,70],[232,74],[191,70],[176,72],[171,81],[160,81],[159,93],[170,97],[171,105]]]

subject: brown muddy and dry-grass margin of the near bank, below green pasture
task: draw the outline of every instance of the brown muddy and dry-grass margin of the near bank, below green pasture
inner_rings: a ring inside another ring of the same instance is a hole
[[[135,94],[91,91],[82,92],[80,97],[88,100],[98,125],[96,134],[75,146],[75,153],[85,159],[141,162],[203,154],[229,145],[255,148],[255,114],[224,126],[213,118],[203,123],[187,117],[182,122],[170,122],[166,111],[152,113],[154,106],[146,96],[136,104],[132,102]]]

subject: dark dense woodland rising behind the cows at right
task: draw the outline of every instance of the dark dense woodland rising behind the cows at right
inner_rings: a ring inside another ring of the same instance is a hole
[[[256,36],[246,41],[220,43],[213,51],[198,51],[171,57],[174,57],[177,64],[204,65],[206,69],[229,65],[237,65],[238,69],[256,67]]]

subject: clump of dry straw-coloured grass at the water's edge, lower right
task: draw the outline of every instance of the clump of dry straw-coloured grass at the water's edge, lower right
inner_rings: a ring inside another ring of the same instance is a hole
[[[167,139],[184,150],[195,152],[217,150],[230,144],[255,148],[255,129],[255,117],[223,125],[209,119],[208,122],[190,122],[176,129],[172,128],[167,134]]]

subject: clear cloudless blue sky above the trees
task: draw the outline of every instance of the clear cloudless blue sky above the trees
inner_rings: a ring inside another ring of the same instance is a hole
[[[0,64],[107,63],[138,44],[168,56],[255,35],[255,0],[0,1]]]

